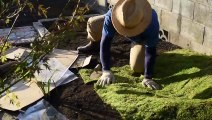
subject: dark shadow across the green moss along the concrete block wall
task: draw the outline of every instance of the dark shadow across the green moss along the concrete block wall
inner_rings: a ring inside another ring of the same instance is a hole
[[[212,75],[212,57],[164,53],[157,58],[155,73],[156,78],[161,78],[159,82],[162,84]]]

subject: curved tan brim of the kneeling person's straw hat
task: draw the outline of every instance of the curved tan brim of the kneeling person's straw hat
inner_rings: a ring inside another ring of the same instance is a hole
[[[117,19],[116,16],[116,10],[117,8],[124,2],[124,0],[119,0],[116,5],[114,6],[113,10],[112,10],[112,24],[114,26],[114,28],[116,29],[116,31],[126,37],[133,37],[136,35],[139,35],[140,33],[144,32],[144,30],[148,27],[148,25],[150,24],[151,20],[152,20],[152,8],[151,5],[149,4],[149,2],[147,2],[146,0],[144,0],[143,4],[144,4],[144,19],[142,19],[142,21],[136,25],[133,28],[126,28],[123,25],[120,24],[120,22]]]

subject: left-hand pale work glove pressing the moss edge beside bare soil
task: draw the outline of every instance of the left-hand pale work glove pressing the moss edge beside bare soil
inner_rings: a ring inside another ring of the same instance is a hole
[[[105,85],[109,85],[115,82],[115,77],[111,71],[103,71],[102,76],[97,81],[97,85],[104,87]]]

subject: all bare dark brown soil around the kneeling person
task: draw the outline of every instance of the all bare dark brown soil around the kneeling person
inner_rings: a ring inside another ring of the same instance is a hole
[[[86,34],[77,35],[75,40],[70,40],[67,49],[76,50],[78,46],[86,45]],[[123,66],[129,62],[130,41],[116,35],[111,47],[112,65]],[[165,51],[180,47],[171,43],[160,41],[158,55]],[[93,62],[87,68],[93,68],[99,63],[99,55],[93,55]],[[71,69],[77,74],[77,70]],[[51,92],[48,101],[62,114],[71,120],[118,120],[120,114],[110,105],[104,103],[94,90],[94,83],[84,84],[82,78],[58,87]]]

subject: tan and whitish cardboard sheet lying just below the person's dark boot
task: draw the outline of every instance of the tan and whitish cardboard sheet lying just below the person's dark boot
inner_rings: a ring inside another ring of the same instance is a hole
[[[40,82],[57,83],[60,78],[65,74],[69,67],[75,62],[78,54],[73,51],[55,49],[52,54],[49,55],[48,65],[50,69],[47,69],[42,62],[40,62],[40,73],[36,72],[35,78]]]

